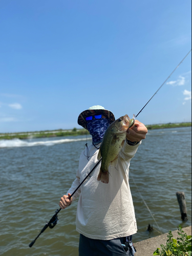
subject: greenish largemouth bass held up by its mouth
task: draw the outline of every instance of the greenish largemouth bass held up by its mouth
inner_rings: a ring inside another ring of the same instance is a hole
[[[134,124],[135,119],[128,115],[122,116],[111,123],[104,133],[98,153],[98,160],[102,157],[98,181],[109,183],[109,166],[115,166],[119,152],[124,144],[127,130]]]

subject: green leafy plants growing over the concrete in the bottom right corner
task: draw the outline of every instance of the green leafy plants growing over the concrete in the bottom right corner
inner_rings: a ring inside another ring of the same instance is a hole
[[[169,231],[166,245],[161,244],[161,249],[157,248],[153,255],[191,256],[191,236],[187,236],[181,226],[179,226],[178,235],[176,240],[173,238],[172,231]]]

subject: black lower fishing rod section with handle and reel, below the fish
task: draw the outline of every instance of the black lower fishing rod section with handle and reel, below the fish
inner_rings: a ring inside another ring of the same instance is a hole
[[[78,187],[75,189],[75,191],[73,191],[72,195],[69,197],[69,200],[72,198],[72,196],[75,194],[75,192],[79,189],[79,187],[82,185],[82,183],[84,181],[87,180],[87,178],[90,176],[90,174],[93,172],[93,170],[98,166],[98,164],[101,162],[102,158],[96,163],[96,165],[92,168],[92,170],[90,171],[90,173],[86,176],[86,178],[84,178],[84,180],[78,185]],[[54,228],[54,226],[57,224],[57,221],[58,221],[58,217],[57,217],[57,214],[59,213],[59,211],[61,210],[60,209],[57,209],[55,211],[55,214],[53,215],[53,217],[51,218],[51,220],[46,223],[46,225],[42,228],[42,230],[40,231],[40,233],[38,234],[38,236],[30,243],[29,247],[32,247],[35,243],[35,241],[37,240],[37,238],[40,236],[40,234],[42,232],[44,232],[48,227],[49,228]]]

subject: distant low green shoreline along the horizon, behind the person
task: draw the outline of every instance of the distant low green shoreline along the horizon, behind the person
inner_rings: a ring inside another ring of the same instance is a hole
[[[191,126],[191,122],[146,125],[148,130],[168,129],[168,128],[177,128],[177,127],[188,127],[188,126]],[[66,136],[78,136],[78,135],[90,135],[90,134],[86,129],[74,128],[73,130],[54,130],[54,131],[23,132],[23,133],[0,133],[0,140],[51,138],[51,137],[66,137]]]

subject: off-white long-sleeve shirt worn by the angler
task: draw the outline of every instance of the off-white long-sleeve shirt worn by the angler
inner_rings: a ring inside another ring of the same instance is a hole
[[[139,143],[140,144],[140,143]],[[130,161],[137,152],[139,144],[131,146],[124,143],[119,153],[116,168],[109,168],[109,183],[97,181],[99,164],[86,181],[73,195],[73,201],[79,197],[76,215],[76,230],[91,239],[110,240],[131,236],[137,232],[135,211],[129,185]],[[97,145],[99,147],[100,145]],[[79,159],[79,168],[68,193],[72,194],[80,182],[89,174],[98,162],[99,150],[89,145]]]

